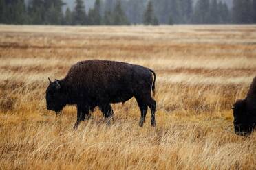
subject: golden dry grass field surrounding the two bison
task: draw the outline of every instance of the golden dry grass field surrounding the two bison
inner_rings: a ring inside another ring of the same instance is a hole
[[[135,99],[46,110],[47,77],[80,60],[156,71],[157,126],[140,128]],[[0,25],[0,169],[255,169],[256,132],[233,132],[232,106],[256,75],[256,25],[51,27]]]

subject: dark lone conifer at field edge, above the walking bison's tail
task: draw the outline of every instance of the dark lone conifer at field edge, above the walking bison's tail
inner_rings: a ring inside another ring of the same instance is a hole
[[[147,8],[143,15],[143,23],[145,25],[158,25],[158,19],[153,12],[153,4],[151,1],[147,4]]]

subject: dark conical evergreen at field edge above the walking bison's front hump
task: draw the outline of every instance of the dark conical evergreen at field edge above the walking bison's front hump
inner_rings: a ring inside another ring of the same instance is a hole
[[[72,24],[85,25],[87,23],[87,15],[85,12],[85,5],[83,3],[83,0],[76,0],[76,6],[72,14]]]

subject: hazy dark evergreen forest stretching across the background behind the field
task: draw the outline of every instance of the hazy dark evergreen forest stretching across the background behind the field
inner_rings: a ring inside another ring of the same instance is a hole
[[[0,23],[36,25],[130,25],[256,23],[256,0],[233,0],[233,8],[217,0],[95,0],[85,10],[63,0],[0,0]],[[65,9],[65,10],[64,10]]]

